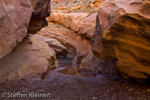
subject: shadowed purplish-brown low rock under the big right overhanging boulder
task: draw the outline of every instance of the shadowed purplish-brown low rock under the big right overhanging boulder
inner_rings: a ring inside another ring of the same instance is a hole
[[[120,76],[115,67],[115,61],[107,61],[93,55],[92,51],[81,61],[79,71],[90,72],[94,75]]]

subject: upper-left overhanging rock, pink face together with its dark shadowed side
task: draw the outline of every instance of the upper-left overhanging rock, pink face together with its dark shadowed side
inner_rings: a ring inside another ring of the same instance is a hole
[[[49,3],[50,0],[0,0],[0,58],[9,54],[27,32],[36,33],[47,25]]]

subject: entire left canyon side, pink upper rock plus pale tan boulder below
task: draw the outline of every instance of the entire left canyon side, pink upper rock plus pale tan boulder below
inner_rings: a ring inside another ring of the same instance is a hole
[[[55,52],[35,34],[47,25],[50,0],[0,0],[0,82],[55,68]]]

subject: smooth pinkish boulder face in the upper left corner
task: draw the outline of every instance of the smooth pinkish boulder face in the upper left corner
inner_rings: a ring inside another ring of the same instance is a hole
[[[27,35],[31,15],[29,1],[0,1],[0,58],[9,54]]]

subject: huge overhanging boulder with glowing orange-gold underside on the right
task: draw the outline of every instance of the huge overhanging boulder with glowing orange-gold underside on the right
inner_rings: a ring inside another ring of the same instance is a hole
[[[116,60],[124,77],[150,75],[150,1],[105,0],[96,22],[93,53]]]

